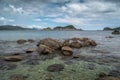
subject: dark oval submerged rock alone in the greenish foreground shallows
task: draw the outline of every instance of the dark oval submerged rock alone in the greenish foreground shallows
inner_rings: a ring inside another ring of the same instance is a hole
[[[49,72],[60,72],[63,71],[64,65],[63,64],[53,64],[48,66],[47,70]]]

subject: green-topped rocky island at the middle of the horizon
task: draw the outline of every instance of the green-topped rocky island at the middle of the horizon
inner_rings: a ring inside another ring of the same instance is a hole
[[[82,30],[82,29],[77,29],[75,28],[73,25],[68,25],[68,26],[57,26],[57,27],[54,27],[53,29],[51,29],[50,27],[47,27],[47,28],[43,28],[42,30],[58,30],[58,31],[62,31],[62,30],[65,30],[65,31],[71,31],[71,30]]]

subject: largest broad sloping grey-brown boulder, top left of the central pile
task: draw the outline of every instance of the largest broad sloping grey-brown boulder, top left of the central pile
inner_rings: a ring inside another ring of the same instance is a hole
[[[40,44],[46,45],[54,50],[60,49],[62,46],[61,42],[52,38],[46,38],[46,39],[40,40],[37,46],[39,46]]]

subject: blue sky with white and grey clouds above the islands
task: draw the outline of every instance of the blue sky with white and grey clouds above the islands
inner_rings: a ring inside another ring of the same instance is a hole
[[[0,0],[0,25],[85,30],[120,26],[120,0]]]

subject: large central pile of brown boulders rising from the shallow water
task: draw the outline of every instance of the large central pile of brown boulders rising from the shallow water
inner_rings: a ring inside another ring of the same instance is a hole
[[[71,38],[64,41],[59,41],[52,38],[42,39],[38,42],[38,52],[40,54],[51,54],[58,50],[65,56],[73,54],[73,48],[82,48],[89,46],[96,46],[97,43],[94,40],[88,38]]]

